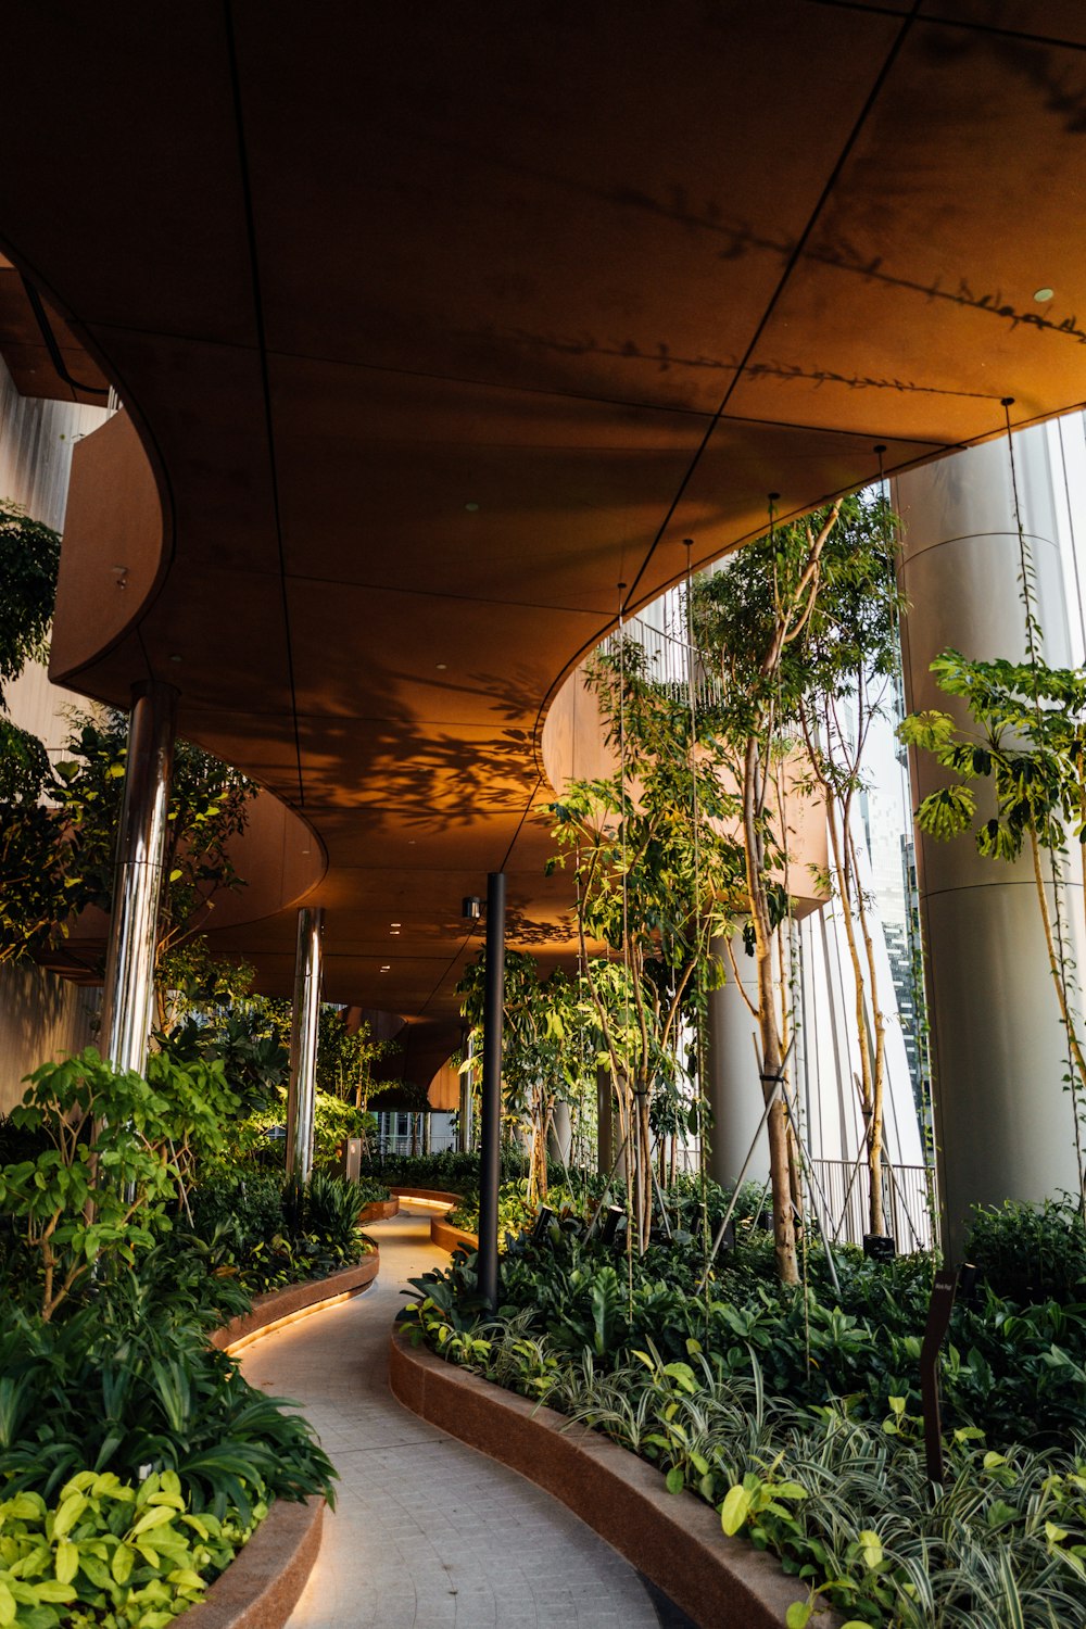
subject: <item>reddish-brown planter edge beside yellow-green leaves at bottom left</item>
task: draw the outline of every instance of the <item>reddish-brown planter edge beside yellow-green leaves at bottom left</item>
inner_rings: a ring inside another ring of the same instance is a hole
[[[261,1526],[184,1621],[192,1629],[282,1629],[321,1548],[324,1500],[277,1499]]]

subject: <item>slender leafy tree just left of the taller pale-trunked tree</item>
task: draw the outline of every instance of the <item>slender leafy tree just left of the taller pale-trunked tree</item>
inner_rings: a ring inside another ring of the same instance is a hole
[[[715,743],[692,722],[689,697],[651,668],[628,637],[589,665],[619,769],[573,782],[552,805],[555,863],[570,860],[578,878],[581,966],[640,1249],[653,1212],[653,1098],[681,1075],[684,1018],[718,981],[710,943],[734,909],[741,868],[728,834],[736,800],[715,774]]]

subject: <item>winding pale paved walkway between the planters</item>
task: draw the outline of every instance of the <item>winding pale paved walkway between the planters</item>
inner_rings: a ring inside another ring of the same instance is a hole
[[[391,1394],[401,1290],[448,1256],[428,1215],[371,1232],[371,1290],[243,1354],[254,1385],[301,1403],[340,1474],[288,1629],[659,1629],[638,1574],[583,1521]]]

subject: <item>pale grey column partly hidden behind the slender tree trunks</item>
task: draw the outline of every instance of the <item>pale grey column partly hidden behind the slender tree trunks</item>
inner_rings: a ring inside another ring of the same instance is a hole
[[[710,990],[705,1025],[705,1101],[710,1109],[707,1127],[707,1168],[721,1188],[733,1188],[759,1129],[765,1096],[759,1080],[759,1028],[742,992],[757,1000],[754,959],[736,946],[742,984],[736,984],[723,940],[713,940],[713,955],[728,968],[728,982]],[[744,963],[751,966],[751,976]],[[759,1134],[747,1179],[764,1183],[769,1176],[769,1137]]]

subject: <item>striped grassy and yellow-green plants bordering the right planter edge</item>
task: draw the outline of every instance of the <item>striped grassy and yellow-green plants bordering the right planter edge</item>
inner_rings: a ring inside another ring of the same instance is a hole
[[[497,1316],[480,1308],[467,1259],[417,1280],[423,1298],[409,1321],[446,1359],[604,1432],[656,1464],[672,1494],[687,1489],[718,1508],[726,1533],[772,1549],[798,1580],[790,1629],[811,1621],[821,1596],[848,1614],[847,1629],[1086,1621],[1081,1435],[1066,1451],[998,1451],[977,1427],[959,1427],[946,1443],[944,1482],[931,1489],[922,1422],[905,1396],[886,1396],[881,1417],[863,1419],[860,1398],[811,1406],[775,1396],[751,1346],[741,1367],[697,1334],[681,1357],[650,1337],[630,1346],[656,1303],[674,1347],[682,1306],[661,1305],[676,1293],[666,1285],[640,1284],[630,1308],[625,1271],[604,1259],[573,1269],[565,1318],[560,1306],[541,1318],[532,1302],[511,1305],[516,1262],[506,1258]],[[526,1280],[516,1289],[524,1293]],[[541,1289],[549,1274],[537,1269]],[[855,1333],[839,1319],[845,1347]]]

